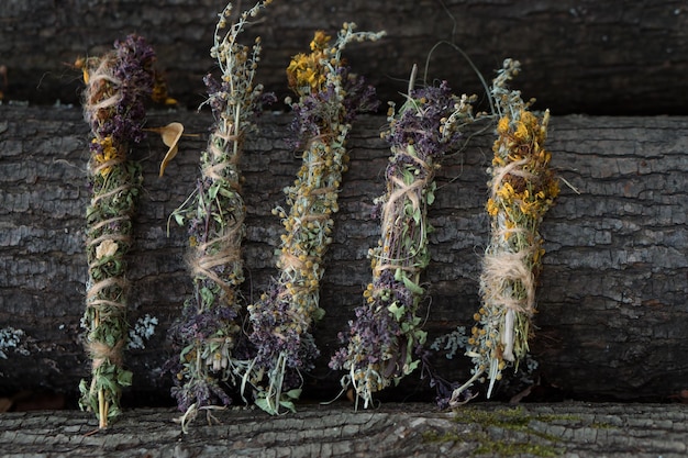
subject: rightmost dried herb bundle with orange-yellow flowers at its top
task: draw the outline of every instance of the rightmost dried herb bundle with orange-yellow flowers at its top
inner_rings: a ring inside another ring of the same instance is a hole
[[[550,167],[552,155],[544,149],[550,112],[539,119],[520,91],[506,87],[519,69],[517,60],[504,60],[492,86],[500,119],[488,169],[491,224],[480,275],[481,306],[468,339],[467,355],[475,367],[471,379],[454,391],[453,403],[485,376],[489,398],[507,365],[518,365],[528,354],[532,335],[535,286],[544,255],[539,228],[559,188]]]

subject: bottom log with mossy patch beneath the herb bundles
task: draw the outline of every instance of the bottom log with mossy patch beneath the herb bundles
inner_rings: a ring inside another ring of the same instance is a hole
[[[477,404],[455,413],[423,404],[354,412],[349,405],[267,417],[204,413],[182,434],[164,410],[133,410],[110,429],[76,411],[0,414],[7,458],[191,457],[609,457],[678,458],[688,453],[681,404]],[[95,433],[90,434],[89,433]]]

